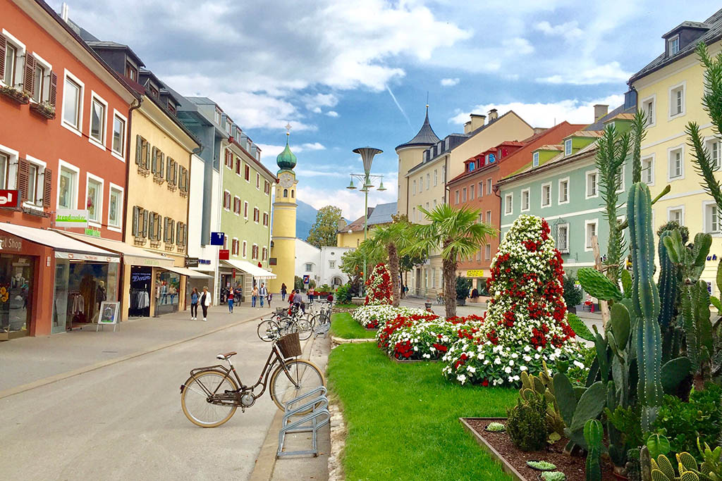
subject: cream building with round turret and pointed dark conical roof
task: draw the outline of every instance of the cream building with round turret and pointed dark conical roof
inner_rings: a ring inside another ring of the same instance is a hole
[[[399,154],[399,213],[405,213],[414,224],[425,224],[420,208],[432,211],[439,204],[448,202],[446,180],[464,172],[466,160],[503,141],[521,141],[534,135],[534,128],[513,110],[501,116],[496,110],[490,110],[488,122],[486,119],[486,115],[471,114],[463,134],[452,133],[443,140],[419,148],[422,142],[416,139],[422,133],[425,134],[423,138],[430,139],[430,133],[433,133],[427,115],[422,130],[410,141],[411,146],[402,144],[396,147]],[[416,163],[406,169],[414,160]],[[440,292],[443,282],[441,268],[439,252],[432,252],[425,265],[412,270],[409,292],[418,296]]]

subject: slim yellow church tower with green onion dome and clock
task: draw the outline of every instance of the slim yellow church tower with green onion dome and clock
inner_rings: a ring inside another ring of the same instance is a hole
[[[290,128],[290,126],[287,126]],[[298,181],[293,168],[296,167],[296,156],[288,146],[276,157],[278,164],[278,183],[273,203],[273,231],[271,242],[271,271],[276,274],[269,282],[269,292],[281,292],[281,285],[286,284],[290,292],[293,288],[296,265],[296,190]],[[275,261],[275,265],[274,265]]]

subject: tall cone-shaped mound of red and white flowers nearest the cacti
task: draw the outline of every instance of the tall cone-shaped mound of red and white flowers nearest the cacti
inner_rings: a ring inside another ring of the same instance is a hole
[[[566,322],[563,274],[547,221],[519,216],[492,261],[484,322],[448,350],[443,374],[461,384],[518,386],[521,372],[538,374],[542,361],[582,361]]]

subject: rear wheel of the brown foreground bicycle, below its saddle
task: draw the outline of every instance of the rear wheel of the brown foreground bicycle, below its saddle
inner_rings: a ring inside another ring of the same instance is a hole
[[[235,413],[234,405],[215,405],[208,400],[211,394],[237,391],[235,381],[220,371],[201,371],[193,374],[181,393],[183,414],[191,423],[201,428],[215,428],[229,420]]]

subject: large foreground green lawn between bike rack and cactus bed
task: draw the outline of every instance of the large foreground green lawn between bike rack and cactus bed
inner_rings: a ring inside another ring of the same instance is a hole
[[[505,416],[516,389],[461,387],[441,363],[394,363],[373,344],[329,356],[329,385],[347,421],[348,480],[510,480],[460,417]]]

